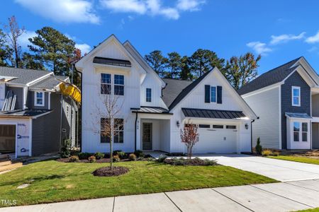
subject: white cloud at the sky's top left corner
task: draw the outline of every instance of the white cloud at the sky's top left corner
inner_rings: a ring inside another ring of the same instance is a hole
[[[99,23],[91,1],[86,0],[16,0],[33,13],[57,22]]]

